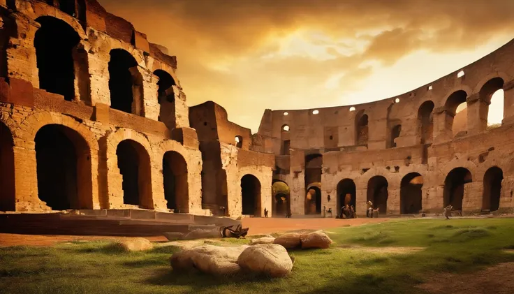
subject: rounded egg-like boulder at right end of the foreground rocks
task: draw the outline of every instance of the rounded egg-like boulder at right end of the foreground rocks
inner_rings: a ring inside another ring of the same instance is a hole
[[[293,269],[287,250],[279,244],[257,244],[241,253],[237,264],[247,271],[268,277],[285,277]]]

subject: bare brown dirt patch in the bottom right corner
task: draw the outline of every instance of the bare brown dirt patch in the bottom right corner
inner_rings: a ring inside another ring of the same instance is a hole
[[[437,274],[421,288],[429,293],[510,294],[514,293],[514,263],[501,263],[472,274]]]

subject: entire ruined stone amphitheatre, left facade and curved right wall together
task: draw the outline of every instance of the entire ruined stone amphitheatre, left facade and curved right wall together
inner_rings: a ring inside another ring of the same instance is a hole
[[[0,15],[0,211],[514,207],[513,41],[400,96],[266,110],[252,135],[214,102],[188,108],[176,57],[95,0],[0,0]]]

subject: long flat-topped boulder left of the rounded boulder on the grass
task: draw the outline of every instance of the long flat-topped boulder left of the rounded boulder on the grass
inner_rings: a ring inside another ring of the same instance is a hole
[[[248,247],[203,245],[174,253],[170,258],[170,264],[173,270],[200,270],[217,276],[237,274],[241,271],[237,258]]]

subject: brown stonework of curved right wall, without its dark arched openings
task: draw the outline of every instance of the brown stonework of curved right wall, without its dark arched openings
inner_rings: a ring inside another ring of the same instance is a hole
[[[494,166],[501,168],[504,177],[499,210],[511,211],[513,52],[514,41],[511,41],[439,80],[374,103],[310,110],[266,110],[258,131],[258,147],[277,156],[279,172],[274,173],[274,179],[289,185],[293,214],[304,214],[304,159],[312,153],[323,155],[321,205],[332,211],[339,212],[341,208],[337,185],[343,179],[351,179],[356,187],[356,209],[359,214],[365,214],[369,179],[383,176],[388,182],[386,213],[399,214],[402,179],[416,172],[423,177],[423,210],[442,212],[446,177],[455,168],[467,168],[472,182],[464,184],[462,211],[464,214],[480,212],[485,207],[484,175]],[[464,75],[457,76],[461,70]],[[487,130],[487,108],[492,94],[499,89],[504,90],[503,123],[499,128]],[[467,103],[467,109],[462,112],[467,122],[459,122],[458,126],[464,131],[453,130],[455,109],[460,103],[455,102],[456,94],[464,95]],[[421,106],[427,101],[433,106],[425,121],[432,124],[422,126]],[[358,146],[357,124],[362,115],[368,116],[368,140],[367,145]],[[286,125],[289,130],[284,132]],[[401,125],[400,134],[393,138],[392,129],[398,125]],[[265,140],[272,140],[272,146],[263,144]],[[291,140],[290,155],[281,155],[283,140]]]

